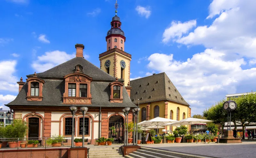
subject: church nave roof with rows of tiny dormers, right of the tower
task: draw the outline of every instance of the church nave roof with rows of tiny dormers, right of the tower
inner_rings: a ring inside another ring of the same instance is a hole
[[[132,80],[130,86],[132,86],[131,100],[134,104],[138,104],[140,99],[140,103],[170,100],[189,105],[164,72]]]

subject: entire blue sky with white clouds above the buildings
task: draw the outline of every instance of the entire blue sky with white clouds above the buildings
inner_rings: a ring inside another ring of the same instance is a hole
[[[75,44],[100,66],[114,0],[0,1],[0,106],[18,94],[20,76],[73,58]],[[117,15],[132,54],[131,78],[165,72],[192,114],[226,94],[255,90],[253,0],[119,0]],[[4,107],[6,108],[6,107]]]

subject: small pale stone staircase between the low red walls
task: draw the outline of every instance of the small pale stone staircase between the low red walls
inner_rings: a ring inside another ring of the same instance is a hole
[[[89,158],[115,158],[123,157],[121,147],[97,147],[88,150]]]

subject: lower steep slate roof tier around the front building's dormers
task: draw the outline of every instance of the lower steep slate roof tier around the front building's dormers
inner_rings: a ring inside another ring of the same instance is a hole
[[[90,105],[72,105],[72,104],[62,104],[63,103],[63,93],[64,93],[64,80],[51,80],[44,79],[43,87],[43,99],[42,101],[27,101],[28,83],[26,82],[22,89],[20,90],[18,96],[9,104],[10,105],[42,105],[42,106],[86,106],[86,107],[137,107],[134,105],[128,96],[125,87],[123,87],[123,103],[110,103],[110,87],[109,82],[91,82],[91,94],[92,94],[92,104]]]

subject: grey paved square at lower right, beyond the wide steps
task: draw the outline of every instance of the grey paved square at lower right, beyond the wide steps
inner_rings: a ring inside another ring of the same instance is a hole
[[[187,143],[186,143],[187,144]],[[180,147],[154,147],[170,151],[177,151],[189,154],[200,154],[205,156],[214,156],[221,158],[255,158],[256,144],[239,143],[239,144],[215,144],[180,146]]]

